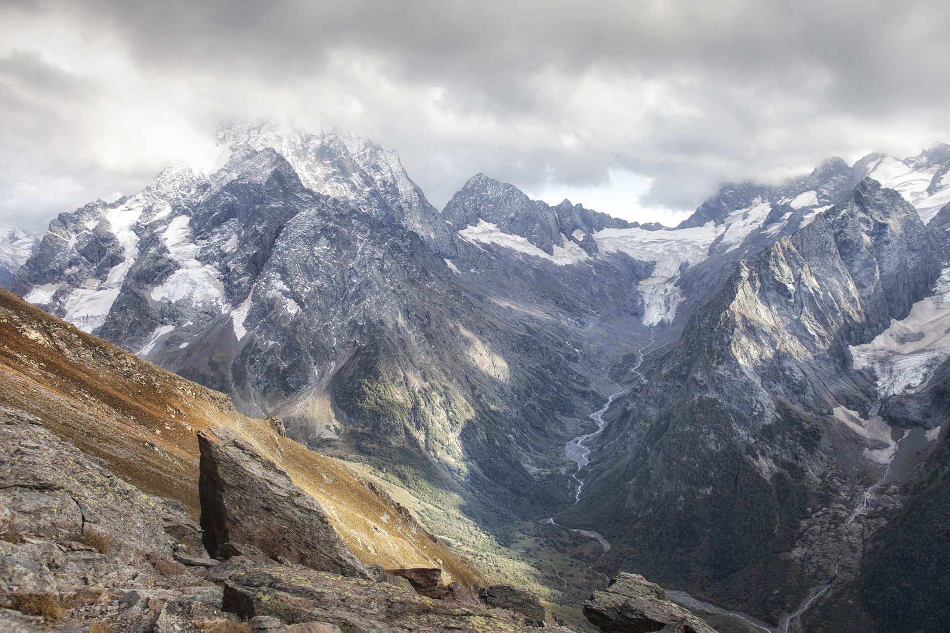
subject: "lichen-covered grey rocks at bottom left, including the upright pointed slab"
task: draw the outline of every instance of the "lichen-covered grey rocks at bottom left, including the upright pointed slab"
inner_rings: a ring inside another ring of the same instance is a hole
[[[400,570],[434,585],[440,600],[382,568],[368,579],[319,506],[234,432],[215,427],[202,437],[205,525],[234,539],[216,560],[189,542],[199,528],[177,502],[142,493],[28,413],[2,408],[0,418],[0,630],[531,630],[523,614],[445,586],[440,569]],[[209,489],[212,472],[220,487]]]

